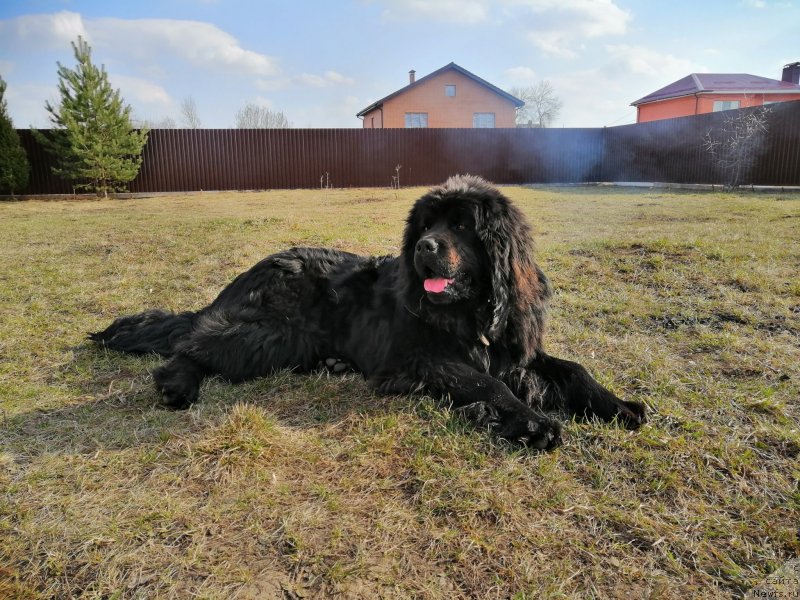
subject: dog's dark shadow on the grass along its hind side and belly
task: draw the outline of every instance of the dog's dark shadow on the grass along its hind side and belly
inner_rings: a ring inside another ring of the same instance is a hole
[[[150,376],[161,362],[155,355],[123,355],[88,344],[73,348],[73,359],[52,377],[56,385],[74,390],[73,399],[57,408],[0,415],[3,445],[23,459],[91,455],[201,434],[222,426],[242,403],[257,407],[280,426],[295,429],[408,411],[415,404],[409,397],[374,394],[361,375],[352,372],[281,371],[239,384],[208,379],[200,402],[175,411],[160,404]]]

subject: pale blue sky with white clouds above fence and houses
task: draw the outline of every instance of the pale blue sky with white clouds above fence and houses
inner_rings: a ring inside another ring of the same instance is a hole
[[[0,75],[17,127],[46,126],[78,34],[139,119],[192,97],[204,127],[255,102],[295,127],[356,113],[456,62],[508,89],[549,80],[555,126],[635,121],[629,104],[692,72],[780,79],[800,61],[800,0],[0,1]]]

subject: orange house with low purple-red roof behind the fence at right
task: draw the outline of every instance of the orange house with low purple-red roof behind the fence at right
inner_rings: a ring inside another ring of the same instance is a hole
[[[800,62],[786,65],[783,77],[767,79],[745,73],[692,73],[632,102],[636,122],[800,100]]]

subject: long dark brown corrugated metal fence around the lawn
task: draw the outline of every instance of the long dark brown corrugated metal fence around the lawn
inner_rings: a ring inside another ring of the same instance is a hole
[[[745,109],[747,110],[747,109]],[[747,183],[800,185],[800,102],[773,106]],[[497,183],[721,183],[703,136],[724,114],[601,129],[156,129],[132,192]],[[71,193],[30,131],[29,194]],[[397,168],[399,166],[399,169]]]

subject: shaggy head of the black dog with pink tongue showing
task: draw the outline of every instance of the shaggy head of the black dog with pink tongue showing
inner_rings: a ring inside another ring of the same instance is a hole
[[[541,346],[550,289],[533,258],[522,212],[480,177],[459,175],[411,210],[403,240],[408,298],[442,311],[474,311],[479,336],[517,358]]]

